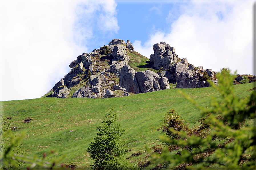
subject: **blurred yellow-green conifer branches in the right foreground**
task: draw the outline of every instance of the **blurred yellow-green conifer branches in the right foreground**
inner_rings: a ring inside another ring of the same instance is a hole
[[[211,107],[203,108],[184,94],[207,117],[203,127],[210,126],[211,131],[205,137],[188,135],[169,129],[186,140],[177,140],[168,136],[160,139],[169,145],[182,148],[179,154],[170,155],[163,149],[161,157],[168,163],[191,169],[255,169],[256,168],[256,128],[245,124],[247,119],[255,119],[255,90],[248,98],[239,98],[234,93],[234,76],[223,71],[217,74],[219,86],[211,85],[220,93],[221,100],[212,97]],[[211,115],[209,115],[211,113]],[[206,123],[206,124],[205,124]],[[244,123],[244,126],[241,124]]]

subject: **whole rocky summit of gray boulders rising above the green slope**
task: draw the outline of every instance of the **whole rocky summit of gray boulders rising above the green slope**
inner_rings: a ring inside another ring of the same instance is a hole
[[[129,40],[113,39],[108,45],[79,55],[69,64],[70,72],[43,97],[110,98],[172,88],[202,88],[218,84],[212,69],[195,67],[179,58],[165,42],[153,45],[150,59],[134,50]],[[132,68],[133,67],[133,68]],[[238,84],[245,75],[237,75]],[[255,76],[247,76],[255,82]]]

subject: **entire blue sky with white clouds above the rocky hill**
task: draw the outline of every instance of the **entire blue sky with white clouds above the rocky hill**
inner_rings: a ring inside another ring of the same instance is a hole
[[[253,74],[252,0],[0,0],[0,101],[40,98],[77,56],[112,39],[150,57],[164,41],[194,66]]]

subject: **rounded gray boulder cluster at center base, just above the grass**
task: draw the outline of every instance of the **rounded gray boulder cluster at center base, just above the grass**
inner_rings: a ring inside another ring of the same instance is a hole
[[[170,88],[167,78],[159,77],[158,74],[150,70],[135,72],[130,66],[124,66],[121,69],[119,85],[134,94]]]

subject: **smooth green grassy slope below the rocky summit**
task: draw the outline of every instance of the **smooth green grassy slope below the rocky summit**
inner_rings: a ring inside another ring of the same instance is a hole
[[[252,87],[252,84],[239,84],[235,85],[235,90],[238,96],[245,98],[250,93],[246,90]],[[92,160],[85,148],[92,141],[96,134],[95,128],[100,125],[110,107],[115,107],[115,112],[119,114],[117,122],[126,128],[124,139],[131,149],[126,157],[137,151],[144,152],[145,146],[160,144],[156,139],[161,135],[161,130],[157,129],[161,127],[164,114],[171,108],[180,113],[190,127],[197,125],[199,111],[179,94],[179,90],[189,94],[204,107],[209,107],[210,95],[218,95],[212,87],[168,89],[106,99],[37,98],[6,101],[2,108],[4,117],[12,117],[11,126],[20,127],[15,133],[25,132],[22,146],[28,155],[42,157],[44,152],[55,149],[57,154],[54,157],[67,155],[63,160],[66,164],[87,168]],[[27,117],[31,117],[32,121],[23,124]],[[145,158],[147,154],[145,152],[139,157],[132,157],[130,161],[138,163],[148,160]]]

